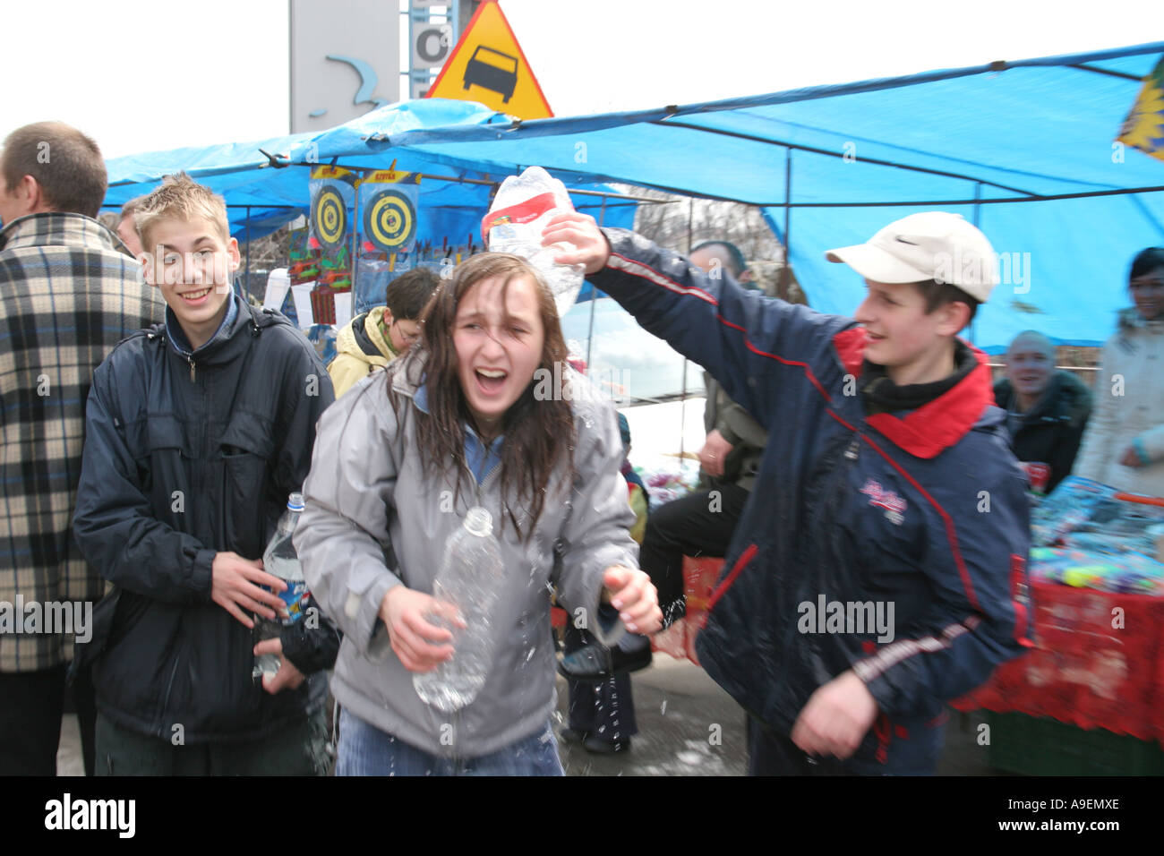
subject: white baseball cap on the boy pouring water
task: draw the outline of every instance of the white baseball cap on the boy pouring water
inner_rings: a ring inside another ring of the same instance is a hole
[[[999,260],[986,235],[945,211],[894,220],[866,243],[830,249],[824,257],[873,282],[950,283],[982,303],[999,284]]]

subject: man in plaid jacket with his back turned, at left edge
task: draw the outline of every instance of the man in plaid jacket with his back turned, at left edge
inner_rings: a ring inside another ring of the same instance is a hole
[[[73,638],[105,592],[71,533],[85,401],[113,346],[165,310],[94,219],[106,182],[97,143],[68,125],[17,128],[0,151],[0,774],[56,772]]]

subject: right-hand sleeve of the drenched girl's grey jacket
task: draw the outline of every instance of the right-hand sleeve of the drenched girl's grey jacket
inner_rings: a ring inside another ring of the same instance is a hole
[[[590,620],[597,616],[603,571],[611,565],[639,566],[639,549],[630,535],[634,512],[620,472],[623,440],[618,420],[609,403],[596,406],[594,417],[577,420],[577,477],[567,497],[569,516],[561,533],[558,580],[561,606],[572,616],[584,609]]]

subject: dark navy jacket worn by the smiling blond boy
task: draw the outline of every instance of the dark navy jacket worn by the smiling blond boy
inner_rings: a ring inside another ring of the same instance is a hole
[[[339,650],[326,618],[318,630],[298,622],[284,653],[313,674],[270,695],[251,678],[253,631],[211,600],[215,553],[262,558],[333,401],[290,321],[234,299],[233,323],[193,353],[157,325],[97,369],[73,518],[85,558],[116,587],[81,655],[95,660],[98,709],[165,740],[180,724],[186,743],[258,738],[301,719],[324,703],[319,670]]]

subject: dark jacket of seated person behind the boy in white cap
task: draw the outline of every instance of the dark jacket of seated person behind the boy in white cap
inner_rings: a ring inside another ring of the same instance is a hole
[[[994,401],[1003,410],[1015,406],[1010,381],[1002,379],[994,384]],[[1079,452],[1087,417],[1091,416],[1091,390],[1070,372],[1056,372],[1043,397],[1023,413],[1014,432],[1015,455],[1028,465],[1042,464],[1050,468],[1043,493],[1071,475],[1071,467]]]

